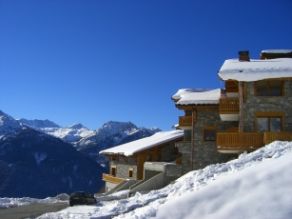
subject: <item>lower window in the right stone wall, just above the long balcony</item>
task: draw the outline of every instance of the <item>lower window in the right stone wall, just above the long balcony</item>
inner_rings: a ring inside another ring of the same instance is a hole
[[[256,122],[260,132],[280,132],[282,130],[281,117],[258,117]]]

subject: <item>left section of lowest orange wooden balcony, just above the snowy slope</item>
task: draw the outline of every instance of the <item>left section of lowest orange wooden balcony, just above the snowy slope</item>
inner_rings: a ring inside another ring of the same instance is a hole
[[[252,151],[264,145],[263,133],[222,132],[217,133],[217,149],[221,153]]]

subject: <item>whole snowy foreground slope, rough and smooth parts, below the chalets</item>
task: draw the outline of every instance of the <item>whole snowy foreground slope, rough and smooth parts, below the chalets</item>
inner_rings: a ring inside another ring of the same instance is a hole
[[[189,172],[160,190],[69,207],[39,219],[292,218],[291,166],[292,142],[274,142],[228,163]]]

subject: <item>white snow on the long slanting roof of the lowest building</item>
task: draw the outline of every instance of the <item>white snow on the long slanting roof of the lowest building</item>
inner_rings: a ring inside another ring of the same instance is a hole
[[[154,135],[146,138],[141,138],[136,141],[132,141],[126,144],[122,144],[116,147],[112,147],[103,151],[100,154],[121,154],[124,156],[131,156],[139,151],[143,151],[155,146],[161,145],[163,143],[176,140],[183,137],[182,130],[173,130],[165,132],[157,132]]]

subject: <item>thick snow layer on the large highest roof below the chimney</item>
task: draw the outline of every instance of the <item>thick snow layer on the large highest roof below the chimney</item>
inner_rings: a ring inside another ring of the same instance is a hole
[[[252,59],[249,62],[228,59],[223,63],[218,74],[223,80],[237,81],[292,77],[292,59]]]

